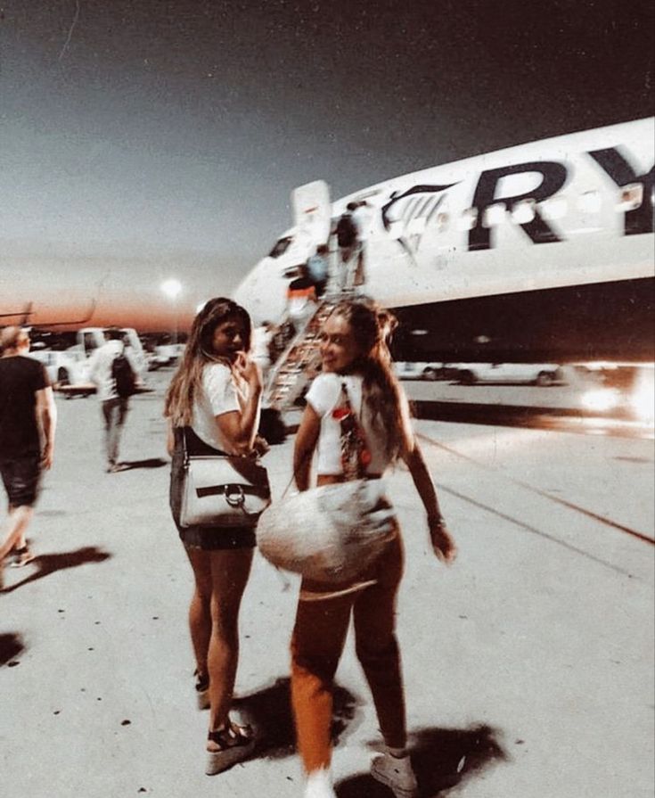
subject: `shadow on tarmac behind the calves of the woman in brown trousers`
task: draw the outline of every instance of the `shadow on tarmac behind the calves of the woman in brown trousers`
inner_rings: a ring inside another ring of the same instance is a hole
[[[355,717],[358,700],[344,687],[333,688],[332,744],[337,745]],[[296,731],[291,714],[291,689],[289,679],[276,679],[269,687],[257,693],[243,695],[233,703],[244,720],[258,730],[256,757],[282,759],[296,753]]]

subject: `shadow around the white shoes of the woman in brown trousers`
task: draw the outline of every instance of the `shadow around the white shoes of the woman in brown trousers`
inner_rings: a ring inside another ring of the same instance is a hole
[[[425,798],[444,795],[493,761],[507,759],[488,726],[468,729],[422,728],[409,739],[419,792]],[[373,747],[373,746],[372,746]],[[335,786],[339,798],[389,798],[389,789],[368,774],[358,774]]]

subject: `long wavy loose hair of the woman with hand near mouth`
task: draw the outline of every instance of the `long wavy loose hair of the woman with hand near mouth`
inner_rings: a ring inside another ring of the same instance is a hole
[[[184,355],[177,367],[166,394],[164,415],[173,426],[188,426],[192,422],[193,401],[201,390],[202,371],[208,363],[231,366],[227,358],[219,358],[213,351],[212,340],[218,325],[236,321],[243,328],[243,349],[250,350],[252,324],[248,312],[233,300],[216,297],[209,300],[193,319]]]

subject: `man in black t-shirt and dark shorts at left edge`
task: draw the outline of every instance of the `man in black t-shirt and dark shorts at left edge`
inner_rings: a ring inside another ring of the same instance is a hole
[[[0,331],[0,476],[9,498],[8,530],[0,538],[0,588],[6,555],[13,550],[18,564],[29,562],[25,531],[34,514],[42,469],[53,465],[53,389],[44,366],[26,358],[28,352],[25,330]]]

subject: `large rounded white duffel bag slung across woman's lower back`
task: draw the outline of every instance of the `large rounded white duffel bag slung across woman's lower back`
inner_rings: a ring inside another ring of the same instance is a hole
[[[257,545],[266,559],[310,580],[356,579],[396,534],[381,480],[354,480],[274,502],[259,516]]]

